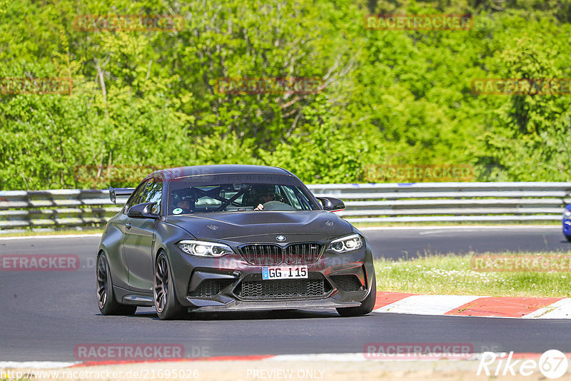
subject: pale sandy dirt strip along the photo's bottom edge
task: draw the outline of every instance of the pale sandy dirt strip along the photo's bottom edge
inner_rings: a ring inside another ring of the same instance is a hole
[[[63,368],[59,370],[24,370],[20,375],[29,380],[545,380],[535,369],[528,376],[502,376],[503,365],[495,376],[496,367],[490,367],[490,375],[476,375],[479,360],[408,360],[408,361],[294,361],[264,360],[246,361],[183,361],[146,362],[122,365],[101,365]],[[3,370],[8,372],[9,370]],[[16,372],[16,370],[14,370]],[[4,373],[4,376],[6,373]],[[28,377],[29,375],[29,377]],[[1,379],[1,378],[0,378]],[[8,380],[14,380],[16,377]],[[21,380],[22,378],[20,378]],[[571,380],[569,372],[559,380]]]

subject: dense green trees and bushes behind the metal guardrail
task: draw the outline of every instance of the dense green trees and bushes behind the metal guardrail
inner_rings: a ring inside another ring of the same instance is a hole
[[[567,181],[570,96],[476,95],[470,83],[571,77],[570,9],[571,0],[0,0],[0,77],[73,80],[71,94],[0,93],[0,190],[132,186],[153,168],[210,163],[282,166],[309,183],[360,182],[375,164]],[[364,29],[366,14],[392,12],[473,14],[473,29]],[[185,25],[77,30],[87,14],[181,15]],[[219,78],[243,77],[323,86],[216,91]],[[111,168],[121,176],[106,176]]]

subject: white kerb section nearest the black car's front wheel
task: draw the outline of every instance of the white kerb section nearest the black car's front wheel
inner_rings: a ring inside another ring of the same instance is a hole
[[[413,315],[443,315],[470,303],[475,295],[412,295],[374,310],[375,313],[406,313]]]

